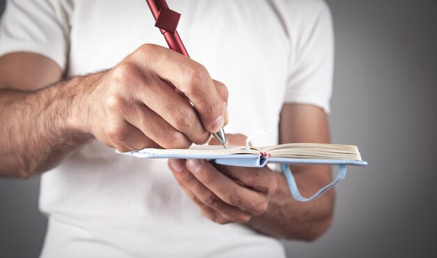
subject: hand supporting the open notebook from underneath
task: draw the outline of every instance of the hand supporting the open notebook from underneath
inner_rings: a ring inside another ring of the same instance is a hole
[[[228,144],[244,145],[244,135],[227,135]],[[205,160],[169,159],[168,167],[205,217],[219,224],[249,222],[267,211],[276,193],[278,173],[267,167],[233,167]]]

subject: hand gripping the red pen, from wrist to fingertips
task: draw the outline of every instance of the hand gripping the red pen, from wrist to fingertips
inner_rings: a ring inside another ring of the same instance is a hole
[[[70,124],[119,151],[188,148],[207,142],[228,121],[225,85],[165,47],[142,45],[88,77]]]

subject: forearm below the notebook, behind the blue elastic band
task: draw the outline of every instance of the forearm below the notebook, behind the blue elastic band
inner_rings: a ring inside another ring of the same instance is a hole
[[[313,195],[327,184],[329,179],[311,176],[325,173],[324,170],[327,169],[329,168],[326,166],[293,168],[302,195]],[[270,200],[267,211],[253,217],[247,225],[262,234],[279,238],[312,241],[323,234],[332,222],[334,191],[329,190],[311,202],[297,202],[290,194],[285,176],[276,174],[276,177],[278,189]]]

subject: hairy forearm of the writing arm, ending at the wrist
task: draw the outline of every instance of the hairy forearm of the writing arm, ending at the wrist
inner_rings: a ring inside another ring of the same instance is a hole
[[[0,90],[1,176],[45,172],[93,138],[74,125],[84,107],[83,81],[77,77],[38,91]]]

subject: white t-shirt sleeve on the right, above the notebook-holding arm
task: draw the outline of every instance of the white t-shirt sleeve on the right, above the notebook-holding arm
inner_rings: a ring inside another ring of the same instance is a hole
[[[324,1],[306,1],[290,22],[292,50],[284,102],[316,105],[329,113],[334,69],[329,8]]]

